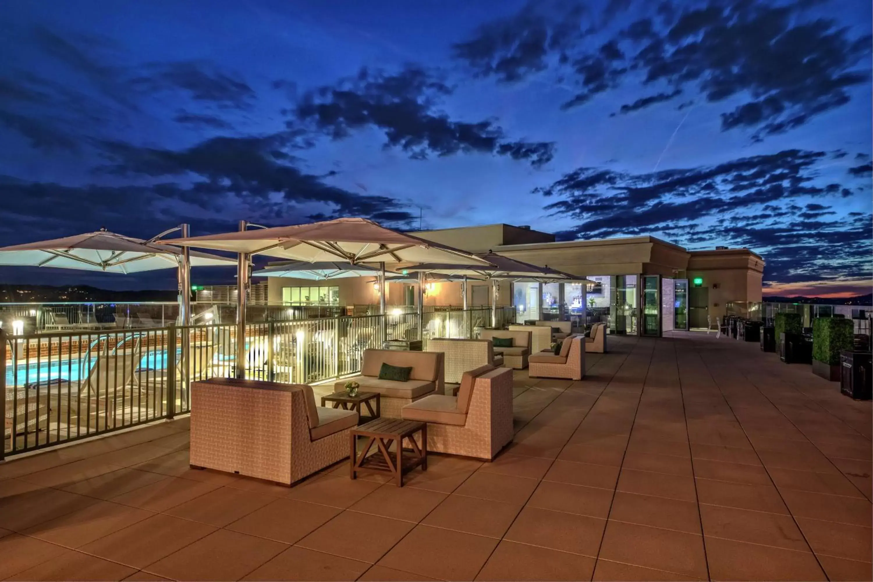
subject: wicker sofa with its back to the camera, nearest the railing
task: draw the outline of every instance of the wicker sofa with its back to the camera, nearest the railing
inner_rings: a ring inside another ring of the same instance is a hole
[[[348,456],[358,413],[313,388],[229,378],[191,384],[190,464],[291,486]]]

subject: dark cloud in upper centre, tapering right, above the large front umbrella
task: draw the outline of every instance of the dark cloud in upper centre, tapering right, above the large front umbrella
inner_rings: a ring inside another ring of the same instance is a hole
[[[493,120],[451,120],[437,105],[452,92],[443,79],[409,66],[387,74],[362,69],[354,79],[306,92],[289,127],[311,128],[334,140],[354,130],[377,127],[386,147],[400,147],[413,159],[430,154],[491,153],[526,160],[534,167],[553,157],[553,142],[509,141]]]

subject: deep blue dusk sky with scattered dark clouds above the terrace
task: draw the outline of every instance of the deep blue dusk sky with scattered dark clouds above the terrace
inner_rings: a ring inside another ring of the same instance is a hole
[[[871,18],[869,0],[7,3],[0,245],[511,223],[745,247],[766,294],[868,293]]]

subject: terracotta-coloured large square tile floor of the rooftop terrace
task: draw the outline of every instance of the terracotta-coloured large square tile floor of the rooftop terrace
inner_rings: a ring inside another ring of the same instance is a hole
[[[0,579],[869,580],[870,402],[668,335],[610,336],[581,382],[516,371],[498,459],[402,490],[191,470],[186,418],[0,463]]]

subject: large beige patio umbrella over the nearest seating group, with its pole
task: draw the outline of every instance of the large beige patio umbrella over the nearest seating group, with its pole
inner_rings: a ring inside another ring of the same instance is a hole
[[[365,218],[337,218],[320,223],[248,230],[240,221],[239,231],[210,236],[175,239],[175,244],[238,253],[237,336],[245,335],[245,288],[249,284],[252,255],[266,255],[297,261],[343,261],[349,264],[378,264],[384,281],[385,265],[401,266],[426,262],[484,265],[487,261],[439,243],[387,229]],[[421,303],[421,302],[419,302]],[[380,285],[379,307],[385,313],[385,285]],[[419,305],[419,309],[421,306]],[[237,342],[237,361],[244,361],[244,342]],[[243,357],[239,357],[240,354]],[[244,376],[241,366],[237,374]]]

